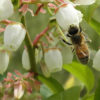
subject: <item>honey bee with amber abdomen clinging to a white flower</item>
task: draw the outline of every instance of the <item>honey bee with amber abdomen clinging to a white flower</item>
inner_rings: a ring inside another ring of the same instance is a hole
[[[79,61],[82,64],[87,64],[89,60],[89,49],[81,27],[70,26],[67,36],[70,37],[72,41],[72,45],[74,46]],[[70,43],[67,44],[71,45]]]

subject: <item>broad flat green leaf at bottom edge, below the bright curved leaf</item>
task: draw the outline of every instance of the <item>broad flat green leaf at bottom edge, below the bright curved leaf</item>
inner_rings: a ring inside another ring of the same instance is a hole
[[[45,100],[78,100],[80,96],[80,87],[72,87],[63,92],[57,93]]]

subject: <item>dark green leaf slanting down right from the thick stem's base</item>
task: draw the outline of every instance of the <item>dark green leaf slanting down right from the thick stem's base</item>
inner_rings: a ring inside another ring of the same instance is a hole
[[[42,75],[39,75],[37,78],[41,82],[43,82],[45,85],[47,85],[48,88],[50,88],[53,93],[58,93],[58,92],[64,91],[61,84],[57,80],[53,79],[52,77],[46,78]]]

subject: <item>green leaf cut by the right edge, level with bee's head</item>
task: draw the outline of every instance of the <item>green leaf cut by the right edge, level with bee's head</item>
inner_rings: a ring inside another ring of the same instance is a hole
[[[95,19],[91,19],[89,25],[100,35],[100,23],[97,22]]]

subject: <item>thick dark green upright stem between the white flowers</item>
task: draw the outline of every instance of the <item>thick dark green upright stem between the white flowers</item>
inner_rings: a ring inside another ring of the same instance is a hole
[[[21,22],[26,28],[24,16],[22,16]],[[34,72],[35,74],[37,74],[36,62],[35,62],[35,47],[32,45],[32,41],[31,41],[28,31],[26,32],[26,36],[25,36],[25,44],[27,46],[27,51],[28,51],[30,64],[31,64],[30,72]]]

